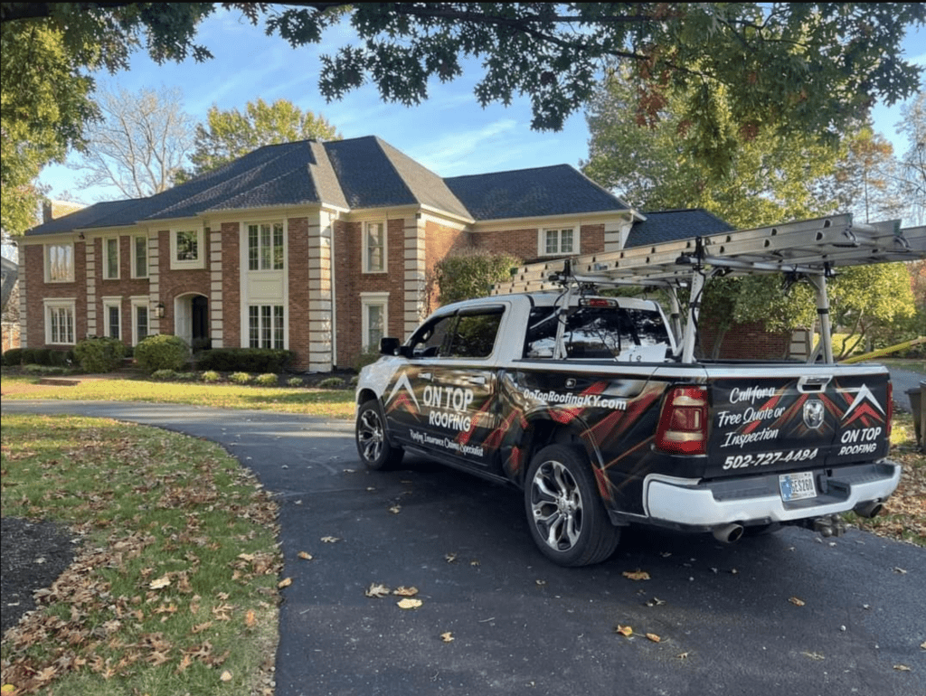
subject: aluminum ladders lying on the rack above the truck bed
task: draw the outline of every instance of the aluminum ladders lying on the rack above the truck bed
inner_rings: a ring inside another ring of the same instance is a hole
[[[827,275],[833,268],[926,258],[926,226],[900,229],[899,221],[854,225],[849,214],[783,225],[596,252],[514,269],[493,294],[561,290],[564,281],[675,287],[694,268],[725,273]],[[564,277],[569,276],[569,279]]]

